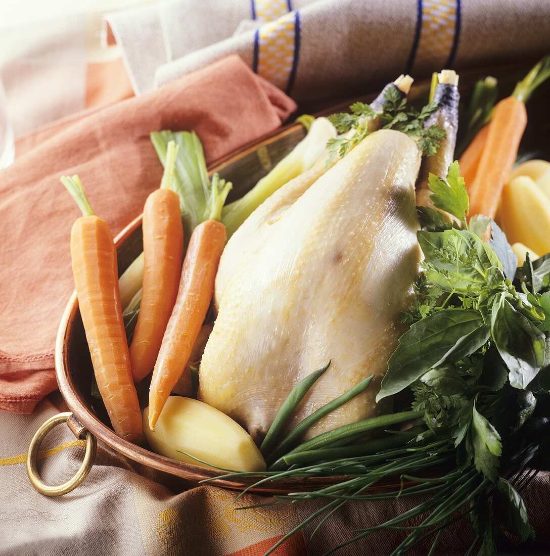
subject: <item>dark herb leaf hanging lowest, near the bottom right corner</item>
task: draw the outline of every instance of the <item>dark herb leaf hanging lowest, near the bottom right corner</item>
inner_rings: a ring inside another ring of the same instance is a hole
[[[529,525],[527,508],[522,497],[506,479],[499,477],[493,493],[495,517],[521,542],[534,538],[534,531]]]

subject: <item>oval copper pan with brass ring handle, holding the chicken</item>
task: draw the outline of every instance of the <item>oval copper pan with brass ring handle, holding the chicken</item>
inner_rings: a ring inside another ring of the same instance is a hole
[[[474,83],[479,78],[495,75],[499,78],[499,86],[507,90],[508,86],[515,83],[530,67],[531,62],[516,66],[501,68],[485,68],[470,71],[460,75],[460,90],[463,98],[468,97]],[[413,86],[409,98],[426,98],[429,91],[429,82],[424,81]],[[542,96],[542,95],[541,95]],[[359,100],[369,102],[374,95],[361,97]],[[343,103],[323,112],[334,113],[347,110],[350,102]],[[529,109],[539,112],[541,117],[530,119],[527,143],[531,141],[539,146],[541,137],[548,136],[548,117],[544,103],[531,101]],[[535,105],[535,106],[533,106]],[[275,164],[288,154],[292,148],[305,136],[304,128],[295,123],[287,126],[264,140],[245,147],[240,152],[234,153],[221,162],[213,165],[211,172],[218,172],[221,177],[234,184],[231,192],[233,198],[241,196],[267,173]],[[141,216],[134,220],[116,237],[118,253],[118,270],[121,274],[126,267],[140,254],[142,250]],[[86,336],[78,309],[76,293],[73,293],[68,302],[59,327],[56,342],[56,376],[61,393],[72,413],[63,413],[49,419],[34,435],[31,441],[27,459],[27,471],[33,485],[45,495],[56,496],[70,492],[86,478],[93,465],[93,456],[96,450],[96,438],[116,450],[117,452],[137,461],[140,464],[175,475],[191,483],[198,483],[204,479],[214,480],[211,484],[227,489],[241,490],[254,483],[255,479],[215,479],[219,472],[197,465],[176,461],[171,458],[153,453],[150,450],[132,444],[119,436],[110,428],[105,410],[97,403],[90,393],[90,383],[93,370]],[[66,422],[73,433],[80,439],[86,439],[85,460],[77,475],[67,483],[60,486],[48,486],[42,483],[36,469],[36,459],[39,444],[49,430],[59,423]],[[260,488],[252,489],[256,493],[285,494],[298,490],[311,490],[334,484],[341,480],[338,477],[318,477],[308,479],[286,480],[278,483],[265,483]],[[386,485],[388,486],[388,485]],[[384,488],[384,486],[375,487]]]

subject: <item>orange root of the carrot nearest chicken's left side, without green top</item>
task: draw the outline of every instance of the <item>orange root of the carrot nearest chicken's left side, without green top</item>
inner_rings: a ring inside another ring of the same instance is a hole
[[[191,235],[181,271],[176,305],[166,327],[149,390],[149,426],[155,424],[182,375],[214,293],[214,279],[226,241],[217,220],[199,224]]]

